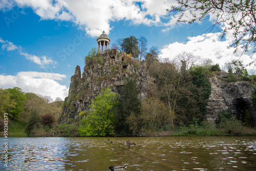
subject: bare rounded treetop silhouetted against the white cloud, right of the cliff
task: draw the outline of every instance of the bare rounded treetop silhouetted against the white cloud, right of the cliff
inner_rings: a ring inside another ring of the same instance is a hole
[[[183,67],[186,70],[189,70],[190,67],[200,60],[200,58],[200,56],[196,56],[191,52],[183,51],[175,56],[174,64],[179,69]]]

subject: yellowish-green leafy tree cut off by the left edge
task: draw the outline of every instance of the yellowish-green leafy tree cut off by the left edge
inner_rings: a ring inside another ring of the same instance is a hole
[[[10,93],[0,88],[0,112],[1,118],[4,118],[4,113],[11,114],[10,111],[15,107],[16,102],[10,98]]]

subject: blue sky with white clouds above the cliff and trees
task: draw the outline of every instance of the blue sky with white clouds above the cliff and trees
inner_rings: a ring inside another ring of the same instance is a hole
[[[233,54],[232,33],[221,39],[222,26],[214,17],[194,24],[175,23],[166,9],[174,0],[0,0],[0,88],[68,96],[70,78],[97,47],[104,30],[110,47],[119,38],[144,36],[147,47],[157,46],[171,60],[183,51],[219,63],[256,59],[250,51]],[[254,68],[247,68],[253,74]],[[251,73],[250,73],[251,72]]]

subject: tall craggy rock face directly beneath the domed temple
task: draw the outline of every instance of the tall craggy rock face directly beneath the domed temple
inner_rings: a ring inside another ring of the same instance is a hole
[[[140,99],[147,98],[147,88],[153,78],[146,70],[145,61],[129,59],[125,53],[112,49],[86,60],[82,76],[77,66],[71,77],[69,96],[65,98],[60,123],[78,120],[79,112],[89,110],[91,100],[106,87],[120,93],[126,78],[136,79]]]

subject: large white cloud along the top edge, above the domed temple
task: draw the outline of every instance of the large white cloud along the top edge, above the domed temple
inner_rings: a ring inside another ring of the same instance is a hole
[[[166,9],[175,5],[175,1],[141,0],[10,0],[3,1],[0,9],[10,9],[17,5],[20,8],[31,8],[41,19],[68,20],[84,29],[90,36],[98,36],[102,30],[106,34],[112,30],[110,23],[118,20],[129,20],[131,24],[161,24]],[[169,25],[169,24],[168,24]]]

